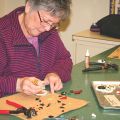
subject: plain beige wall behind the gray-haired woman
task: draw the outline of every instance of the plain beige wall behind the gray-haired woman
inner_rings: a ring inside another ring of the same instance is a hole
[[[14,8],[24,5],[25,0],[0,0],[0,16]],[[93,22],[109,14],[109,0],[72,0],[72,14],[70,24],[66,31],[60,32],[60,36],[70,51],[74,54],[72,34],[84,29],[89,29]],[[64,22],[65,25],[67,22]]]

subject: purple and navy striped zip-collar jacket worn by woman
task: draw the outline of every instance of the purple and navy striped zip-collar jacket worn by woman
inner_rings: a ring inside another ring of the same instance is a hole
[[[38,38],[39,55],[25,38],[17,8],[0,19],[0,97],[16,92],[16,80],[34,76],[44,79],[47,73],[57,73],[63,82],[71,79],[72,60],[58,32],[51,30]]]

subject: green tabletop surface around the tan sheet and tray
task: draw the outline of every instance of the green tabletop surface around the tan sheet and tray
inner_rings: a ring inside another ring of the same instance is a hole
[[[91,61],[104,59],[107,62],[112,62],[120,66],[120,59],[110,59],[107,56],[112,53],[117,47],[107,50],[99,55],[91,58]],[[83,73],[84,61],[74,65],[72,70],[72,79],[70,82],[64,84],[62,91],[69,92],[70,90],[82,89],[81,94],[70,94],[70,97],[84,99],[88,101],[88,105],[63,114],[65,120],[73,120],[71,117],[76,117],[76,120],[120,120],[120,110],[104,110],[98,104],[97,98],[91,87],[92,81],[114,81],[120,80],[119,71],[94,71]],[[60,92],[62,92],[60,91]],[[95,115],[96,117],[92,116]],[[20,120],[12,115],[0,115],[0,120]],[[75,120],[75,119],[74,119]]]

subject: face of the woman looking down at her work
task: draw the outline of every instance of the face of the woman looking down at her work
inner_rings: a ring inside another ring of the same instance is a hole
[[[28,36],[38,36],[42,32],[55,28],[59,22],[60,18],[51,16],[50,12],[31,11],[30,6],[26,5],[23,28],[26,29]]]

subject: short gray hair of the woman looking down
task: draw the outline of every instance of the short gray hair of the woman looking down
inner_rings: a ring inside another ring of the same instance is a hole
[[[50,11],[52,16],[61,20],[66,19],[70,14],[71,0],[26,0],[33,10]]]

